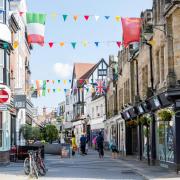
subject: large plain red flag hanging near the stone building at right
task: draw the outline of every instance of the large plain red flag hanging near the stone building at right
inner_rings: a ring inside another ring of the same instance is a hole
[[[121,21],[125,47],[131,42],[139,42],[141,34],[141,18],[121,18]]]

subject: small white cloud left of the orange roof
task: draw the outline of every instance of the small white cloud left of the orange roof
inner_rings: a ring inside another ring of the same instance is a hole
[[[56,63],[54,64],[54,72],[60,78],[70,78],[72,75],[72,65],[70,64],[63,64],[63,63]]]

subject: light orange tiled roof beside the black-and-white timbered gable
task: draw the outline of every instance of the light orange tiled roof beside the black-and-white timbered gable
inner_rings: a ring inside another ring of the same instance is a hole
[[[90,71],[95,64],[91,63],[75,63],[74,64],[74,73],[76,75],[76,79],[80,79],[85,73]]]

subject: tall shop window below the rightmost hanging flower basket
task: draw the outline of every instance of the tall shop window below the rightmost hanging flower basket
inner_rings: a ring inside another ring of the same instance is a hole
[[[159,160],[165,162],[174,162],[173,121],[159,121],[158,136]]]

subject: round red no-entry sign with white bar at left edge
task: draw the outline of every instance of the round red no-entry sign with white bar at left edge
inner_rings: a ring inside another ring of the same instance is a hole
[[[0,104],[10,104],[11,90],[5,86],[0,85]]]

